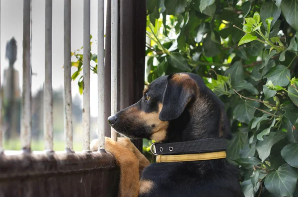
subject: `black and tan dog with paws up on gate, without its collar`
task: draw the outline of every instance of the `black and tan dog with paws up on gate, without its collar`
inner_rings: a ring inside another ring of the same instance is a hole
[[[223,103],[191,73],[155,79],[139,102],[109,117],[109,123],[128,138],[163,143],[231,137]],[[121,197],[244,197],[236,170],[225,159],[150,164],[127,138],[105,143],[120,166]],[[90,148],[97,150],[96,140]]]

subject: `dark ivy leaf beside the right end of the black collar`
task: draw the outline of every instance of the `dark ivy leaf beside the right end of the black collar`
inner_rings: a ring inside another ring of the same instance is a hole
[[[237,131],[232,134],[233,138],[228,141],[228,148],[226,150],[226,157],[232,160],[238,159],[239,151],[248,144],[247,132]]]

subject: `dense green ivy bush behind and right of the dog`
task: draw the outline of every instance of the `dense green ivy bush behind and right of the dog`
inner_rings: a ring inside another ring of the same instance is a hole
[[[147,3],[146,80],[202,76],[225,104],[245,197],[297,197],[298,0]]]

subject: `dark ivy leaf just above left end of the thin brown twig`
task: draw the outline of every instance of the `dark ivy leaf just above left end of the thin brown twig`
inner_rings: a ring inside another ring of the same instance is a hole
[[[229,74],[230,76],[233,76],[231,78],[232,86],[235,86],[244,79],[244,71],[241,61],[235,62],[232,66],[225,70],[224,75],[228,76]]]

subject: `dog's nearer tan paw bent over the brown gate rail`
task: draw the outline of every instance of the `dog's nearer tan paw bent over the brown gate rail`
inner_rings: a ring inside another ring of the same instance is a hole
[[[120,167],[139,164],[132,151],[109,137],[105,137],[105,150],[112,153]]]

